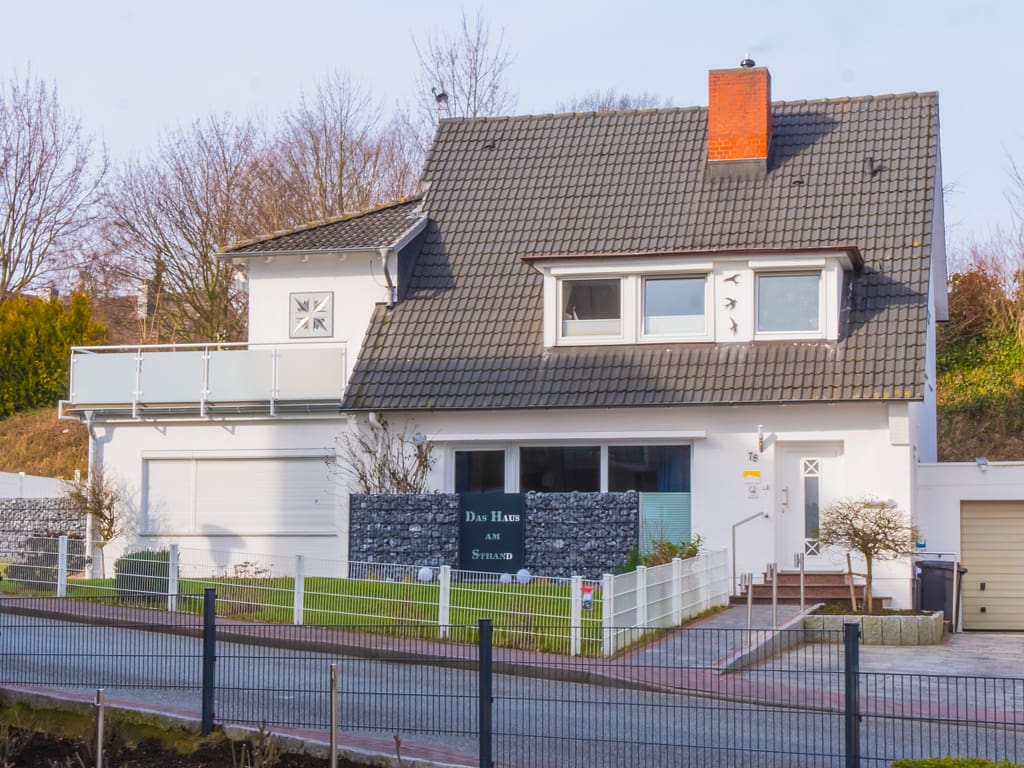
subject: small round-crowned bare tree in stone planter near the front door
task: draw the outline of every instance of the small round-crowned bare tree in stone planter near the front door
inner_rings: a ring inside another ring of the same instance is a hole
[[[863,555],[864,602],[867,612],[873,613],[871,581],[876,560],[895,560],[912,552],[918,529],[895,502],[866,496],[843,499],[822,510],[818,540]]]

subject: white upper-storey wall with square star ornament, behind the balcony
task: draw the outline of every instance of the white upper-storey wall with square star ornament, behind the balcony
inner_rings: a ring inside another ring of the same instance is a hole
[[[302,259],[306,260],[303,261]],[[249,262],[249,341],[302,343],[339,341],[348,345],[348,371],[362,344],[370,317],[379,302],[388,300],[380,254],[297,254],[253,257]],[[393,268],[393,265],[392,265]],[[330,338],[294,339],[290,336],[289,303],[293,293],[334,294]]]

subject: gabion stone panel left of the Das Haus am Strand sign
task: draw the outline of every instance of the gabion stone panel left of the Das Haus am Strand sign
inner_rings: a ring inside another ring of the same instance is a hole
[[[348,556],[357,562],[455,565],[459,558],[459,497],[352,494]]]

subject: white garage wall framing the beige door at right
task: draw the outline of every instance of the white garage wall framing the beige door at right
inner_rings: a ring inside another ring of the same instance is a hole
[[[922,464],[915,522],[927,551],[961,550],[961,502],[1024,500],[1024,462]]]

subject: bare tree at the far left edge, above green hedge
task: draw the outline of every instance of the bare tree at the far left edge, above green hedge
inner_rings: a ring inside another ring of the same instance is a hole
[[[0,82],[0,301],[65,265],[105,172],[55,86],[31,75]]]

